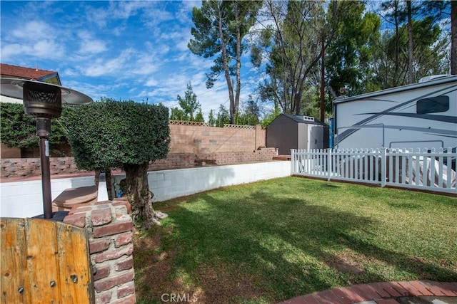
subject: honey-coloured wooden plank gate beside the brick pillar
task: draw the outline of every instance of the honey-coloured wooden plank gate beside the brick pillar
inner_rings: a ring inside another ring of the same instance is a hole
[[[86,229],[0,219],[1,303],[94,303]]]

